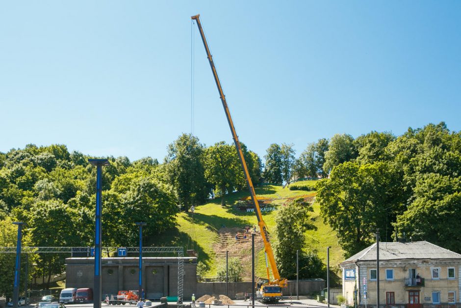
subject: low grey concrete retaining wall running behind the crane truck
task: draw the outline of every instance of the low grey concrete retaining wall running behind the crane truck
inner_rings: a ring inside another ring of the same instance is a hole
[[[228,283],[228,294],[231,299],[235,299],[235,294],[248,292],[251,293],[251,282],[229,282]],[[320,292],[326,287],[326,281],[323,279],[315,280],[300,280],[299,281],[299,295],[309,295],[314,292]],[[220,295],[226,294],[226,282],[198,282],[197,291],[195,293],[196,298],[202,295]],[[296,280],[288,281],[288,286],[283,289],[283,295],[296,294]]]

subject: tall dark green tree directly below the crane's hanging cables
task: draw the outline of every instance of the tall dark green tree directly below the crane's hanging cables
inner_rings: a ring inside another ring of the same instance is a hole
[[[182,134],[168,145],[165,158],[168,180],[185,209],[204,203],[210,193],[203,161],[204,146],[191,134]]]

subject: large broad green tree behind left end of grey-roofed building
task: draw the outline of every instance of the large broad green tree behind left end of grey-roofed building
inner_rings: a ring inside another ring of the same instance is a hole
[[[336,231],[346,257],[370,245],[376,228],[392,230],[402,212],[399,181],[386,163],[343,163],[316,188],[324,222]]]

